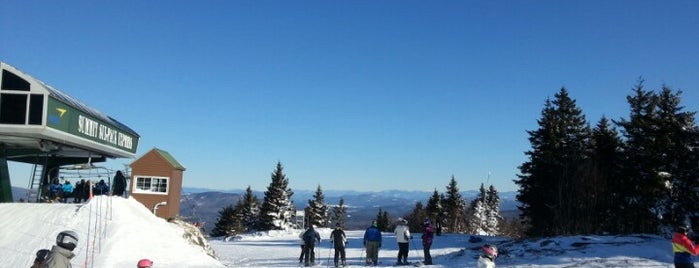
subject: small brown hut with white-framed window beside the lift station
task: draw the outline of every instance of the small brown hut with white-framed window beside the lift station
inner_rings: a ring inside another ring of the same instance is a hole
[[[156,216],[173,218],[180,211],[184,171],[170,153],[153,148],[131,163],[129,193]]]

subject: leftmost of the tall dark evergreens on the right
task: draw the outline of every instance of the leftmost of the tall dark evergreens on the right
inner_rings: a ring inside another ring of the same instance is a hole
[[[517,199],[520,217],[530,235],[582,232],[581,217],[589,210],[584,196],[590,165],[590,129],[565,88],[546,100],[539,129],[527,131],[532,150],[520,166]],[[587,223],[585,223],[587,224]]]

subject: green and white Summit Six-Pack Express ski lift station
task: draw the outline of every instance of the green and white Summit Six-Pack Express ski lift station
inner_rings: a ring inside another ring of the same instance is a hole
[[[8,161],[33,165],[27,201],[37,202],[49,178],[106,181],[93,163],[134,158],[131,128],[4,62],[0,70],[0,202],[13,200]]]

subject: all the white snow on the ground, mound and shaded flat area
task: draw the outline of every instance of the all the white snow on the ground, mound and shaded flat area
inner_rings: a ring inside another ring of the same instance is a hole
[[[154,267],[297,267],[300,230],[246,234],[211,239],[217,259],[183,238],[179,225],[155,217],[134,199],[98,196],[85,204],[0,203],[0,267],[29,267],[37,250],[50,249],[62,230],[80,236],[73,267],[136,267],[149,258]],[[324,239],[316,247],[317,263],[332,267],[330,229],[319,228]],[[348,230],[348,262],[363,265],[363,230]],[[409,260],[422,260],[420,234],[414,234]],[[673,267],[669,239],[655,235],[570,236],[513,241],[483,237],[470,243],[468,235],[436,236],[435,265],[475,267],[478,248],[492,243],[500,249],[497,267]],[[382,267],[396,261],[395,237],[384,233],[379,257]]]

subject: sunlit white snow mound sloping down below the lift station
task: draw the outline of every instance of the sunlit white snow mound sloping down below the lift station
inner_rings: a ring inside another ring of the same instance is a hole
[[[142,258],[155,267],[224,267],[188,243],[181,227],[134,199],[106,196],[85,204],[0,203],[0,267],[29,267],[63,230],[80,236],[73,267],[135,267]]]

